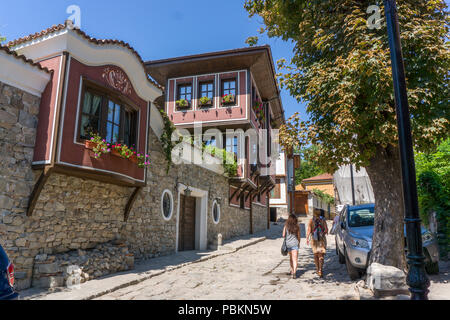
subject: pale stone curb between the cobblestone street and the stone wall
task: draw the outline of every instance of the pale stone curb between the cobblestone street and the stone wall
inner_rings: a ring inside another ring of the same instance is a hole
[[[216,250],[216,251],[212,251],[210,254],[205,255],[205,256],[201,257],[200,259],[197,259],[197,260],[194,260],[194,261],[181,263],[181,264],[178,264],[176,266],[169,266],[169,267],[164,268],[163,270],[143,272],[142,273],[143,275],[142,276],[137,276],[136,279],[128,280],[125,283],[122,283],[120,285],[114,286],[114,287],[109,288],[109,289],[103,289],[103,290],[101,290],[101,291],[99,291],[99,292],[97,292],[95,294],[90,294],[90,295],[88,295],[86,297],[82,297],[82,298],[80,297],[78,299],[79,300],[93,300],[93,299],[99,298],[101,296],[104,296],[106,294],[112,293],[114,291],[117,291],[117,290],[129,287],[129,286],[133,286],[133,285],[139,284],[139,283],[141,283],[141,282],[143,282],[145,280],[148,280],[148,279],[151,279],[153,277],[159,276],[159,275],[164,274],[166,272],[177,270],[177,269],[186,267],[186,266],[194,264],[194,263],[204,262],[204,261],[207,261],[207,260],[219,257],[219,256],[224,256],[224,255],[227,255],[227,254],[231,254],[231,253],[237,252],[237,251],[239,251],[241,249],[244,249],[246,247],[249,247],[249,246],[255,245],[255,244],[259,243],[259,242],[265,241],[266,239],[267,238],[265,236],[259,237],[259,238],[255,238],[255,239],[251,239],[249,241],[246,241],[243,244],[240,244],[240,245],[234,247],[232,250]],[[236,240],[236,241],[242,241],[242,240]],[[226,246],[227,245],[230,246],[230,243],[228,243],[228,244],[225,243],[225,245]],[[99,279],[99,280],[101,281],[101,279]],[[82,289],[80,289],[80,290],[82,290]],[[71,292],[65,292],[65,293],[70,294]],[[36,296],[35,299],[36,300],[42,300],[43,298],[45,299],[46,296],[51,295],[51,294],[53,294],[53,293],[42,295],[42,296]],[[25,300],[32,300],[32,299],[33,299],[33,296],[29,297],[28,299],[25,298]]]

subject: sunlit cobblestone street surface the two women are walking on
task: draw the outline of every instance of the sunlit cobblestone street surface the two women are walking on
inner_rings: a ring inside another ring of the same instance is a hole
[[[304,236],[304,225],[302,226]],[[324,278],[315,273],[312,251],[303,238],[297,279],[287,275],[289,258],[280,254],[282,225],[271,228],[267,240],[201,263],[185,266],[99,297],[101,300],[265,300],[359,299],[328,237]]]

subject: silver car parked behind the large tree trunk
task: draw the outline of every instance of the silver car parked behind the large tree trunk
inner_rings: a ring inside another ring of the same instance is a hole
[[[346,205],[336,226],[336,254],[346,265],[350,279],[360,278],[366,271],[372,249],[375,204]],[[435,237],[422,227],[426,271],[439,273],[439,249]],[[406,241],[405,241],[406,243]],[[406,247],[406,246],[405,246]],[[406,249],[405,249],[406,250]]]

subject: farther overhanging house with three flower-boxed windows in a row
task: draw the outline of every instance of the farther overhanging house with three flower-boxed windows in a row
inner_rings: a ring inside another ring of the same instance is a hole
[[[278,151],[272,150],[271,130],[284,123],[270,47],[145,65],[150,76],[166,86],[165,111],[177,128],[194,136],[197,129],[203,136],[201,143],[235,154],[238,170],[230,179],[230,205],[249,210],[250,221],[254,212],[268,211],[276,175],[273,154],[277,152],[272,151]]]

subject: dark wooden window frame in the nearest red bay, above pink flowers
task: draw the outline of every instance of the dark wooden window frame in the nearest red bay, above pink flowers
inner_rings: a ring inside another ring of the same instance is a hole
[[[134,144],[136,149],[138,149],[139,145],[139,121],[140,121],[140,109],[132,102],[128,97],[115,92],[111,89],[106,88],[105,86],[96,83],[95,81],[83,79],[83,87],[81,91],[81,101],[80,101],[80,110],[78,112],[78,124],[77,124],[77,142],[84,143],[87,137],[81,137],[81,124],[82,124],[82,115],[83,115],[83,107],[84,107],[84,99],[86,96],[86,92],[90,92],[91,94],[100,96],[102,98],[100,105],[100,130],[98,134],[106,139],[106,124],[108,122],[108,104],[109,101],[119,105],[121,107],[120,110],[120,129],[119,129],[119,143],[123,143],[124,140],[124,130],[125,130],[125,112],[130,112],[134,115],[134,128],[131,129],[132,135],[134,135]],[[131,147],[132,145],[129,145]]]

